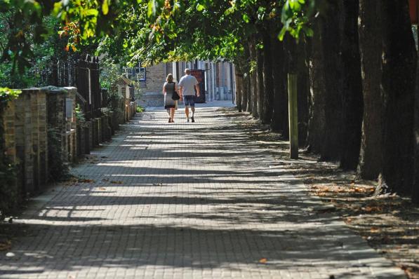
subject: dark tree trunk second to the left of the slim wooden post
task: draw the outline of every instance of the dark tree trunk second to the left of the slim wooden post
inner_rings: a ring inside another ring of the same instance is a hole
[[[263,103],[262,123],[270,124],[274,109],[274,80],[272,77],[272,50],[270,29],[263,34],[263,88],[265,98]]]

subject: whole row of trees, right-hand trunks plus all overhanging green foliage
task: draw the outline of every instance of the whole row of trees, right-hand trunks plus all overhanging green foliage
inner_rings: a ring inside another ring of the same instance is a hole
[[[230,60],[237,108],[284,139],[286,77],[296,73],[302,146],[379,179],[379,193],[419,202],[417,53],[408,0],[1,2],[32,18],[35,42],[45,34],[44,15],[59,18],[69,51],[93,43],[109,56],[145,64]],[[30,52],[16,51],[27,47],[20,22],[12,31],[4,60],[19,66]]]

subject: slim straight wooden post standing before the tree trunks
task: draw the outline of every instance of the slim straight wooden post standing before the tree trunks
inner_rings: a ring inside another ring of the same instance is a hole
[[[288,118],[290,128],[290,158],[298,159],[297,74],[288,74]]]

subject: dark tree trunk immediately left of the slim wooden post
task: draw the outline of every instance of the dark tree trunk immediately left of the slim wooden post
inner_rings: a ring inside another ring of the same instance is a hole
[[[288,93],[286,91],[286,57],[284,42],[272,38],[272,76],[274,80],[274,112],[271,129],[288,138]]]

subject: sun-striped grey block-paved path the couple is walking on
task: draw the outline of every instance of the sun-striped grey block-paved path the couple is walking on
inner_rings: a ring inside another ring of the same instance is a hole
[[[177,116],[136,116],[40,196],[0,278],[405,278],[230,118]]]

